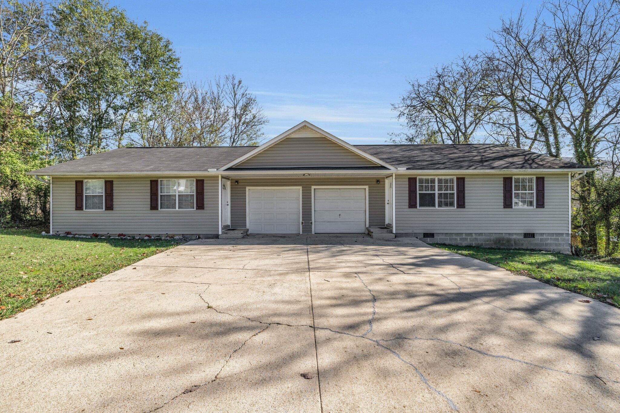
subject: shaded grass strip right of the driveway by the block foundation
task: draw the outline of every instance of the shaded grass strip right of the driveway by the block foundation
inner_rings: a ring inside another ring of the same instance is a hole
[[[445,244],[433,246],[620,307],[620,265],[612,262],[542,251]]]

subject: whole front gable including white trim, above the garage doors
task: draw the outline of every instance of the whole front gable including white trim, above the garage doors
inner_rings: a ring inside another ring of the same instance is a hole
[[[283,134],[239,157],[221,170],[231,167],[369,167],[395,169],[388,163],[342,139],[303,121]]]

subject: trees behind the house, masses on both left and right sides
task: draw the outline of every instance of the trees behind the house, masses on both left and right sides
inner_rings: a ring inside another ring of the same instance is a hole
[[[126,146],[255,145],[267,123],[234,75],[182,82],[170,41],[98,0],[0,0],[0,225],[49,219],[24,172]],[[393,142],[497,142],[598,172],[573,183],[583,252],[619,250],[620,6],[546,1],[441,64],[393,109]]]

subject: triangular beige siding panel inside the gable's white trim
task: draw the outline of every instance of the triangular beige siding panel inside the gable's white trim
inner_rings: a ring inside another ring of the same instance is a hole
[[[330,141],[309,128],[302,128],[237,167],[376,166],[377,164]]]

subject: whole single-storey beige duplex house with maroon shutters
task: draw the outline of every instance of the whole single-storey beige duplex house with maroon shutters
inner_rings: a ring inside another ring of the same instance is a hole
[[[351,145],[303,121],[261,146],[114,149],[50,177],[50,232],[370,233],[568,252],[590,168],[498,144]]]

